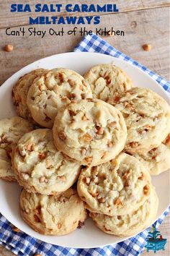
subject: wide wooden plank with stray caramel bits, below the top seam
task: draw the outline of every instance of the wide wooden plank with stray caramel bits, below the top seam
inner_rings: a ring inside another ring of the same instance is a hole
[[[164,15],[162,15],[164,13]],[[125,36],[104,37],[108,43],[115,46],[133,59],[144,64],[154,72],[169,79],[169,8],[149,9],[124,14],[104,15],[99,27],[114,27],[115,30],[124,30]],[[29,26],[27,26],[29,27]],[[48,30],[48,25],[33,26],[39,30]],[[58,30],[60,26],[52,26]],[[73,29],[69,25],[64,28]],[[80,27],[80,26],[79,26]],[[15,27],[17,30],[19,27]],[[87,30],[93,30],[94,26],[86,25]],[[63,35],[63,37],[45,35],[44,38],[32,37],[27,33],[24,37],[12,37],[5,35],[5,29],[0,30],[0,48],[6,43],[14,45],[14,51],[6,53],[0,51],[1,76],[0,84],[10,77],[14,72],[30,64],[32,61],[45,56],[60,54],[66,51],[73,51],[73,48],[81,40],[79,34],[76,36]],[[149,52],[143,51],[144,43],[151,43],[152,49]]]

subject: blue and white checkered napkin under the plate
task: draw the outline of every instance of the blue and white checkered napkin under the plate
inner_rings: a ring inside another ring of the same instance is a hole
[[[153,73],[151,70],[138,64],[137,61],[130,59],[130,57],[125,56],[117,49],[113,48],[106,41],[97,37],[97,35],[87,35],[81,43],[74,49],[74,51],[90,51],[99,52],[101,54],[107,54],[115,56],[119,59],[134,64],[135,66],[142,69],[147,74],[151,75],[154,80],[156,80],[168,93],[170,93],[170,84],[158,74]],[[170,207],[166,209],[163,215],[156,221],[156,227],[158,227],[164,220],[164,217],[169,213]],[[120,242],[119,244],[109,245],[101,248],[93,249],[73,249],[59,247],[53,244],[48,244],[45,242],[40,242],[23,232],[12,231],[12,224],[1,216],[0,214],[0,244],[4,245],[7,249],[10,249],[16,255],[32,256],[35,253],[43,256],[53,256],[53,255],[67,255],[67,256],[101,256],[101,255],[118,255],[118,256],[138,256],[143,251],[143,247],[146,244],[146,237],[150,228],[141,232],[137,236],[131,239]]]

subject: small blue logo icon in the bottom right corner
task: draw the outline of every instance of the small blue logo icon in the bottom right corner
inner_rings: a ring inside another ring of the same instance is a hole
[[[161,232],[156,230],[156,224],[152,226],[153,232],[148,232],[148,237],[146,239],[146,251],[153,250],[156,253],[158,250],[164,250],[166,240],[161,236]]]

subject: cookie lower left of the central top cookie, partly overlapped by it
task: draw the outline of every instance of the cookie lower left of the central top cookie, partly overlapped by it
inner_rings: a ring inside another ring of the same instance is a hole
[[[13,157],[19,184],[28,192],[52,195],[76,182],[81,166],[59,152],[50,129],[36,129],[18,142]]]

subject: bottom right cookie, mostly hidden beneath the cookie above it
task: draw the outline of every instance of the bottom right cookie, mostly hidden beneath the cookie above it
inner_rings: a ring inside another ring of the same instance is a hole
[[[132,213],[122,216],[106,216],[100,213],[90,213],[97,227],[107,234],[115,236],[133,236],[150,226],[156,219],[158,197],[154,188],[143,205]]]

